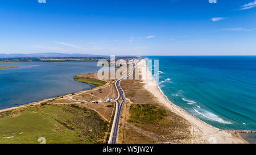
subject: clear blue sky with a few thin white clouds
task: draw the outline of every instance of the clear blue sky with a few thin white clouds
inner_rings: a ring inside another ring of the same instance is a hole
[[[256,55],[255,17],[255,0],[1,1],[0,53]]]

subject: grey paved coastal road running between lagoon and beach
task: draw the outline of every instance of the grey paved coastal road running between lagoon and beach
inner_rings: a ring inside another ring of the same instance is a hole
[[[129,77],[130,74],[133,73],[133,69],[134,69],[134,66],[131,69],[131,72],[123,78]],[[114,121],[113,121],[112,129],[111,129],[111,132],[110,132],[110,138],[109,138],[109,143],[110,144],[117,144],[118,131],[119,131],[119,121],[120,121],[121,114],[122,114],[123,104],[126,102],[125,95],[124,95],[123,90],[120,86],[120,82],[122,81],[123,78],[118,79],[118,81],[115,82],[115,87],[117,88],[117,91],[118,91],[118,98],[115,100],[115,102],[117,103],[116,104],[117,106],[116,106],[116,109],[115,109]]]

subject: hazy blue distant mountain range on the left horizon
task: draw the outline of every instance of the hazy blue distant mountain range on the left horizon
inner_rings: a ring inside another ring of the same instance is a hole
[[[34,53],[34,54],[0,54],[0,57],[96,57],[97,55],[88,55],[88,54],[65,54],[65,53]]]

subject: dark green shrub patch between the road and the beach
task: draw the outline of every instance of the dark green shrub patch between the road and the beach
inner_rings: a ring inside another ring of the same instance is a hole
[[[166,111],[152,104],[137,104],[130,107],[129,122],[134,123],[153,123],[162,120]]]

